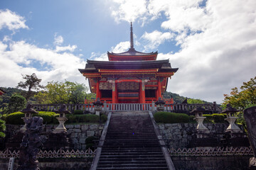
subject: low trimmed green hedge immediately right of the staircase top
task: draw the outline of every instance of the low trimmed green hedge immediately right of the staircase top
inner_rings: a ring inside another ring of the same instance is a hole
[[[189,123],[190,118],[183,113],[157,112],[154,114],[156,123]]]

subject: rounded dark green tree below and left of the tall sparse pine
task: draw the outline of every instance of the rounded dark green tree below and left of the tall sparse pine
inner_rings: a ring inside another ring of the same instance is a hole
[[[11,96],[8,105],[8,113],[14,113],[22,110],[23,108],[26,108],[26,98],[21,96],[21,94],[14,94]]]

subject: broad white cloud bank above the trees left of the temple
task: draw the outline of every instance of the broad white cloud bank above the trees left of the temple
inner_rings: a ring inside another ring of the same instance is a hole
[[[72,53],[57,53],[54,50],[37,47],[25,41],[0,41],[0,56],[2,66],[0,86],[16,86],[23,81],[21,74],[32,74],[48,81],[78,81],[86,83],[78,69],[85,67],[85,61]],[[36,69],[33,64],[41,64]],[[46,67],[46,68],[44,68]]]

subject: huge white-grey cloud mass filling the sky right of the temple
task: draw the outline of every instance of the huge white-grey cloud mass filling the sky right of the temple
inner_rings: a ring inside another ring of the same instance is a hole
[[[221,103],[223,94],[255,77],[256,1],[151,0],[142,8],[146,11],[135,20],[161,18],[161,28],[174,33],[181,47],[174,54],[159,53],[159,60],[169,59],[172,67],[179,67],[168,91]],[[128,8],[119,10],[129,13]],[[164,42],[148,40],[151,47]]]

